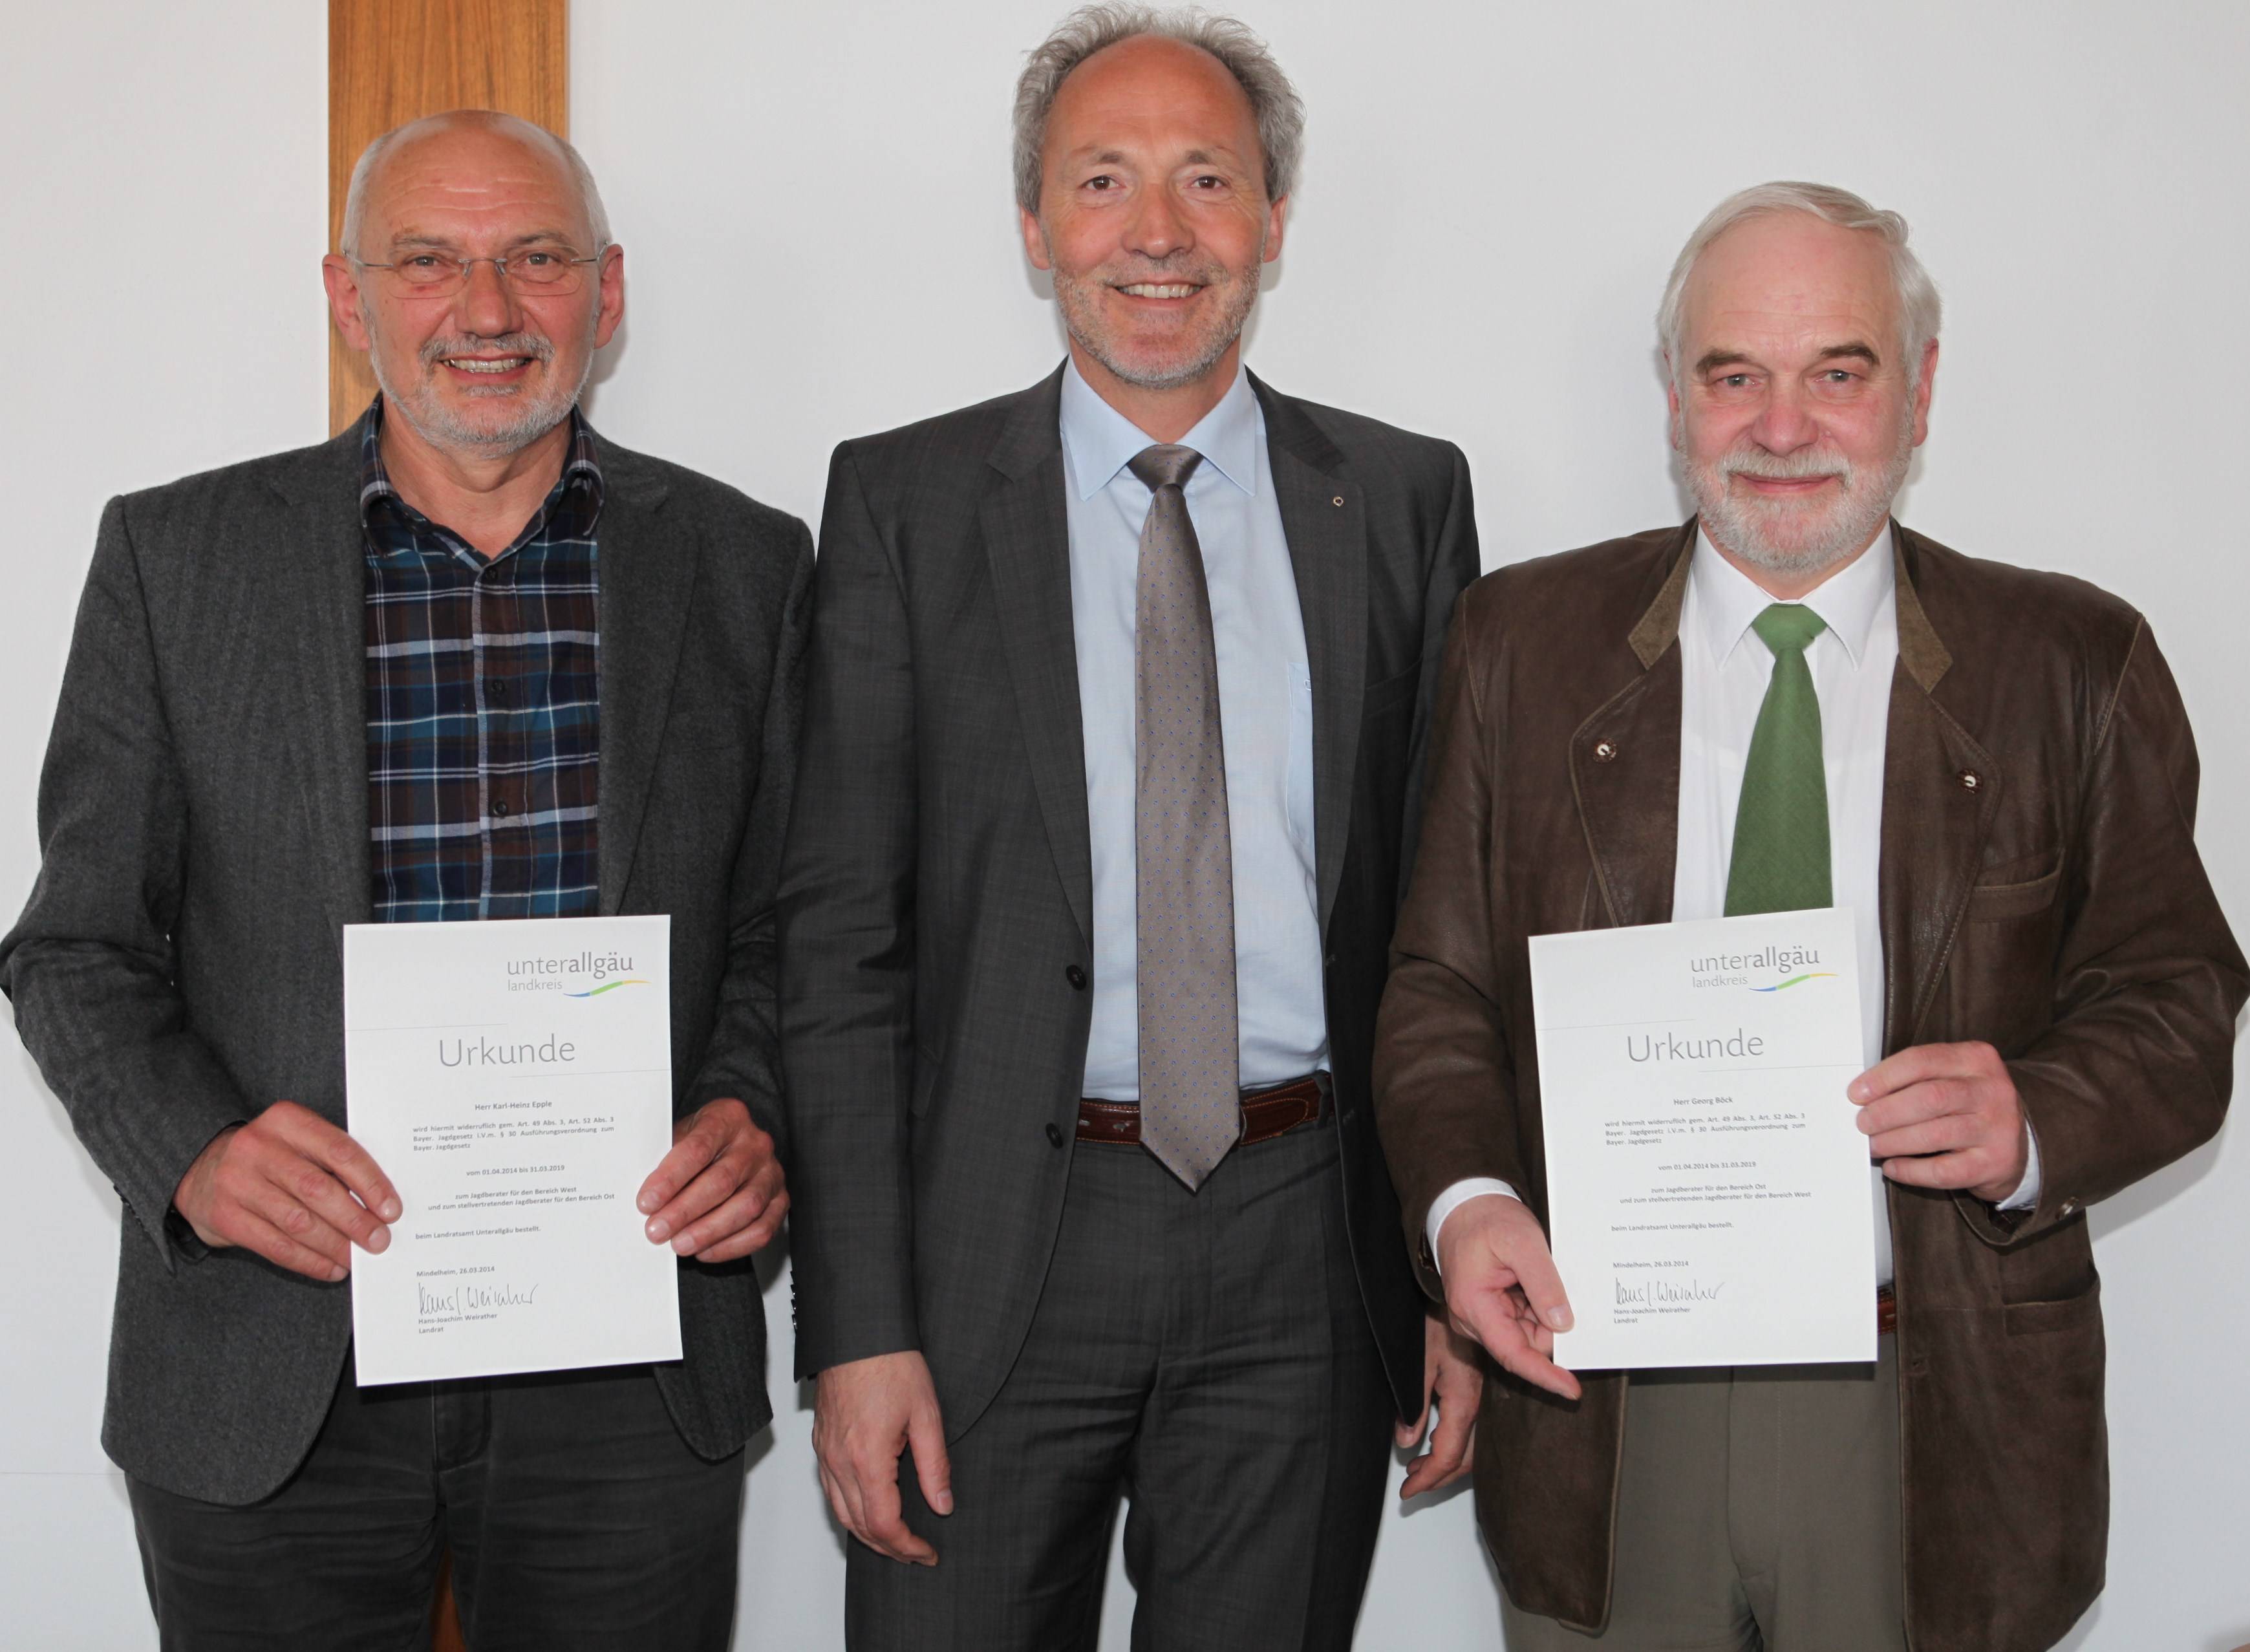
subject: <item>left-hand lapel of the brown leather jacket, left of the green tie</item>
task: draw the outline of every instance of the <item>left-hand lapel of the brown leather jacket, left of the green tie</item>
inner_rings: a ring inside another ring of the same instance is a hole
[[[1611,925],[1670,923],[1681,806],[1681,605],[1694,524],[1627,635],[1640,675],[1570,734],[1570,794]]]

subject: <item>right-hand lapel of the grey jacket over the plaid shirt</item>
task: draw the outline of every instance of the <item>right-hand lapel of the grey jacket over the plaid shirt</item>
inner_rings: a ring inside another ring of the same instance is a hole
[[[695,592],[700,542],[686,524],[659,538],[670,493],[639,455],[598,443],[603,509],[596,527],[601,581],[601,912],[614,916],[632,878],[648,812],[648,781],[680,671],[680,641]]]

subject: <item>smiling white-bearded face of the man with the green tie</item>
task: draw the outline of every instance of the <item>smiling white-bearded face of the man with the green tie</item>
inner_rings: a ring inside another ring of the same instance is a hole
[[[1899,324],[1883,241],[1802,212],[1737,223],[1688,279],[1672,446],[1712,542],[1778,596],[1868,549],[1928,437],[1937,344],[1917,374]]]

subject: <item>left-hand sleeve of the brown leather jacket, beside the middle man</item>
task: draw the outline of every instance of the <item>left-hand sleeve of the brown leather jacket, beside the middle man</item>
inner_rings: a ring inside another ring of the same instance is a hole
[[[1478,626],[1490,594],[1487,581],[1460,599],[1444,644],[1420,851],[1375,1024],[1375,1123],[1400,1188],[1406,1249],[1422,1287],[1440,1299],[1422,1245],[1431,1202],[1462,1177],[1528,1184],[1492,934],[1498,747],[1480,704]]]

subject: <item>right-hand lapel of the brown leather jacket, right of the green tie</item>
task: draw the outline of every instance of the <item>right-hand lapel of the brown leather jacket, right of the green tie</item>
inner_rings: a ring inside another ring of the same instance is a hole
[[[1917,542],[1892,524],[1899,569],[1899,666],[1883,743],[1883,849],[1876,905],[1883,927],[1883,1051],[1906,1049],[1937,993],[1969,907],[1984,837],[2000,803],[2000,770],[1937,702],[1953,664],[1915,590]]]

